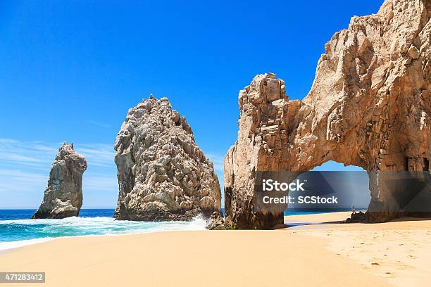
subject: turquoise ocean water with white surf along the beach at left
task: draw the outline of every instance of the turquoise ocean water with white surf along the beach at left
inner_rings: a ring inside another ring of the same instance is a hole
[[[81,210],[80,217],[30,219],[35,210],[0,210],[0,250],[68,236],[142,234],[156,231],[204,230],[206,222],[130,222],[113,219],[113,209]]]

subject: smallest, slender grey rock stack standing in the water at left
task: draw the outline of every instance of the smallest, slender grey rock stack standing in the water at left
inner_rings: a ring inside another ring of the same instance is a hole
[[[44,201],[32,218],[65,218],[80,214],[82,174],[87,170],[85,158],[64,143],[51,165]]]

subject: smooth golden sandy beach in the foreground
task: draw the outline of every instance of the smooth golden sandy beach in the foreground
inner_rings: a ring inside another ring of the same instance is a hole
[[[273,231],[59,238],[0,254],[0,272],[46,272],[44,286],[429,286],[431,221],[322,224],[345,218],[286,217],[314,224]]]

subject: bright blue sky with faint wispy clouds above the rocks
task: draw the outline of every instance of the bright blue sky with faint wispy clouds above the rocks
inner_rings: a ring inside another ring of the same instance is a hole
[[[37,208],[61,141],[92,160],[84,207],[113,207],[111,147],[127,109],[150,93],[187,117],[222,175],[238,90],[275,72],[289,98],[303,98],[325,42],[381,4],[1,1],[0,208]]]

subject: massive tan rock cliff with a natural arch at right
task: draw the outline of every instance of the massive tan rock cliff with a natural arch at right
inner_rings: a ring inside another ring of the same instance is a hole
[[[232,226],[282,223],[281,212],[254,205],[256,172],[304,172],[329,160],[376,171],[369,222],[398,216],[379,174],[430,170],[430,17],[430,0],[387,0],[377,14],[351,18],[325,44],[303,101],[289,101],[273,74],[239,91],[239,135],[225,157]]]

